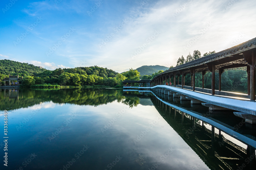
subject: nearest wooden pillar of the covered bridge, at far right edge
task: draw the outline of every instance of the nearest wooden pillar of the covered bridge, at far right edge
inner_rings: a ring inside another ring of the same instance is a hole
[[[256,82],[256,74],[255,74],[255,51],[252,51],[252,64],[250,65],[250,100],[255,100],[255,82]]]

